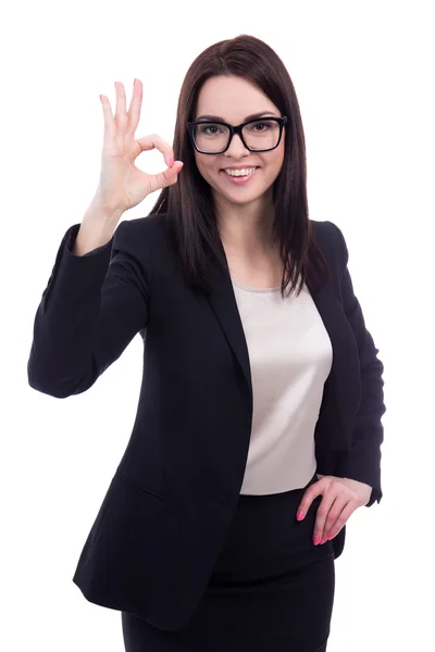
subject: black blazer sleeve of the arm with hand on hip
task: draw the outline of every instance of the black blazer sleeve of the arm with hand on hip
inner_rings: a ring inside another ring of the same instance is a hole
[[[336,225],[334,225],[336,226]],[[341,230],[336,226],[343,247],[344,268],[340,277],[340,291],[346,317],[357,341],[361,368],[361,401],[356,417],[352,443],[347,456],[339,465],[338,475],[348,477],[372,487],[366,504],[381,502],[381,446],[384,441],[384,428],[381,422],[386,408],[384,403],[384,365],[377,356],[373,338],[365,328],[361,305],[353,293],[352,280],[348,269],[349,252]]]

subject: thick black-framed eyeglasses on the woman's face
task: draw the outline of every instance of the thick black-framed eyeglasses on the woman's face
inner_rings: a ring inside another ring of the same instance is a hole
[[[264,117],[250,120],[237,127],[224,122],[188,122],[192,146],[200,154],[223,154],[235,134],[250,152],[269,152],[278,147],[287,117]]]

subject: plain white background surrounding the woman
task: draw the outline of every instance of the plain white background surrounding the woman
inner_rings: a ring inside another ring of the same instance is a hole
[[[349,521],[328,652],[431,648],[433,8],[415,0],[41,0],[2,10],[2,650],[124,649],[120,613],[87,602],[72,576],[133,426],[140,336],[86,393],[59,400],[27,384],[33,321],[60,241],[97,188],[99,93],[114,109],[121,80],[128,105],[139,77],[137,137],[158,133],[172,142],[188,66],[241,33],[265,40],[290,73],[307,139],[310,217],[341,228],[385,365],[384,498]],[[158,152],[137,164],[165,167]],[[147,215],[156,199],[123,218]]]

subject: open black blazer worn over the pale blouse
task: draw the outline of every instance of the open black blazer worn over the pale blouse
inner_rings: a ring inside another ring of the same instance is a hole
[[[373,487],[381,501],[383,364],[364,325],[341,231],[312,221],[333,280],[312,292],[333,346],[315,426],[316,472]],[[28,381],[86,391],[140,333],[144,377],[125,453],[73,581],[90,602],[185,626],[234,516],[252,419],[248,350],[226,268],[210,296],[183,280],[164,215],[122,222],[84,256],[67,229],[38,306]],[[307,478],[307,481],[309,478]],[[291,515],[289,515],[291,518]],[[335,557],[345,528],[333,539]]]

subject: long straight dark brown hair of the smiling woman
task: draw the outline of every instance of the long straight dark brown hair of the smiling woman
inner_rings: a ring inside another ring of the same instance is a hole
[[[287,116],[285,154],[273,186],[273,237],[284,264],[282,296],[300,283],[309,289],[330,277],[326,260],[313,239],[308,216],[306,142],[299,104],[290,76],[274,50],[262,40],[240,35],[214,43],[192,62],[179,93],[175,134],[175,160],[184,168],[173,186],[164,188],[150,214],[166,213],[178,264],[188,285],[208,291],[211,264],[226,266],[209,184],[200,175],[187,122],[192,121],[199,91],[212,76],[232,75],[260,88]],[[287,288],[287,286],[289,286]],[[287,289],[286,289],[287,288]]]

